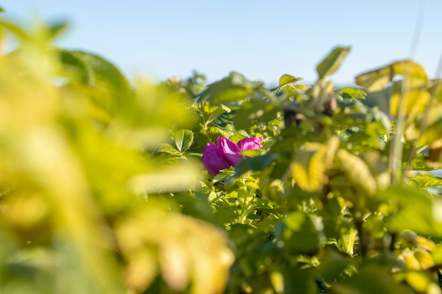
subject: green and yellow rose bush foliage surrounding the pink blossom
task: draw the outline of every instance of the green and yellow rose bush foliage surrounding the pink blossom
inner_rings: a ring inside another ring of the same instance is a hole
[[[1,293],[441,293],[442,84],[414,61],[153,85],[0,25]],[[219,137],[262,148],[213,175]]]

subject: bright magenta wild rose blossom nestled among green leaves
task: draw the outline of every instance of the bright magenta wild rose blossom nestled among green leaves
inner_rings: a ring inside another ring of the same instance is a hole
[[[203,165],[210,173],[217,175],[222,169],[227,169],[229,166],[238,166],[243,158],[241,152],[262,148],[262,141],[262,137],[248,137],[235,144],[227,137],[218,137],[217,145],[214,143],[205,145],[202,158]]]

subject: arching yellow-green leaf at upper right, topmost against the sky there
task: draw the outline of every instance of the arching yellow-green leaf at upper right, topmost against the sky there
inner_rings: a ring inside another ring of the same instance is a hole
[[[396,75],[406,75],[414,82],[427,82],[424,68],[414,61],[397,61],[388,66],[362,73],[356,77],[356,85],[370,92],[384,90]]]

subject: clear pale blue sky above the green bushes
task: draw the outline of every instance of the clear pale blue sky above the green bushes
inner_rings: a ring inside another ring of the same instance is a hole
[[[338,84],[363,71],[410,56],[420,1],[60,1],[9,0],[9,18],[68,20],[57,43],[100,54],[129,78],[186,78],[193,70],[209,81],[229,73],[272,85],[289,73],[316,80],[316,65],[337,45],[351,46]],[[442,1],[424,1],[414,60],[434,78],[442,54]]]

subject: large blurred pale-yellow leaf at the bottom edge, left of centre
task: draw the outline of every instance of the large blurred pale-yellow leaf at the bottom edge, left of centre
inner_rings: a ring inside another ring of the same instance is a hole
[[[121,252],[129,261],[126,281],[138,281],[137,276],[131,275],[142,274],[131,270],[138,268],[140,261],[134,258],[137,254],[148,256],[147,267],[138,269],[149,278],[155,276],[155,269],[160,269],[172,291],[188,287],[194,294],[224,290],[234,255],[217,227],[176,212],[145,207],[122,218],[116,230]],[[129,286],[141,292],[149,284],[150,281],[145,282],[142,288]]]

